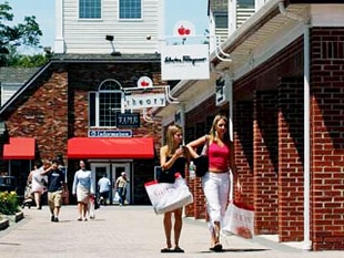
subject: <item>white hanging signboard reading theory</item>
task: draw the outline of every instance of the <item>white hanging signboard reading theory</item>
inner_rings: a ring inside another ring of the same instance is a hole
[[[155,106],[165,106],[166,97],[163,93],[131,94],[124,100],[125,110],[140,110]]]

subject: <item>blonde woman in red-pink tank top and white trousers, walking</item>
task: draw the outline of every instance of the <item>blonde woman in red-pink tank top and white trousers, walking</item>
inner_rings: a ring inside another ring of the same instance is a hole
[[[192,149],[205,145],[209,157],[209,172],[202,177],[203,192],[210,217],[211,246],[213,251],[221,251],[220,230],[230,192],[230,169],[235,177],[233,143],[227,133],[227,118],[216,115],[209,135],[204,135],[188,144]],[[191,153],[193,157],[198,154]]]

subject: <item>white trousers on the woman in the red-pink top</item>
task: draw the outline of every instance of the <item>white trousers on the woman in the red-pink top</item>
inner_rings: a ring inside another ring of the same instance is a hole
[[[209,228],[214,228],[214,223],[222,224],[229,202],[230,173],[206,173],[202,177],[203,193],[206,199],[209,214]]]

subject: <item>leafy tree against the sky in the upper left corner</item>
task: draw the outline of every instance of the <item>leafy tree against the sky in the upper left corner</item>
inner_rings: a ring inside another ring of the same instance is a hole
[[[24,17],[22,23],[11,24],[13,21],[12,8],[8,2],[0,3],[0,66],[8,65],[10,50],[27,45],[41,48],[42,31],[36,22],[36,17]]]

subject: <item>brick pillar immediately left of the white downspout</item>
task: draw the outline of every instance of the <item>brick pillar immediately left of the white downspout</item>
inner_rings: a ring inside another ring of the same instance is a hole
[[[279,237],[303,240],[303,79],[279,85]]]

